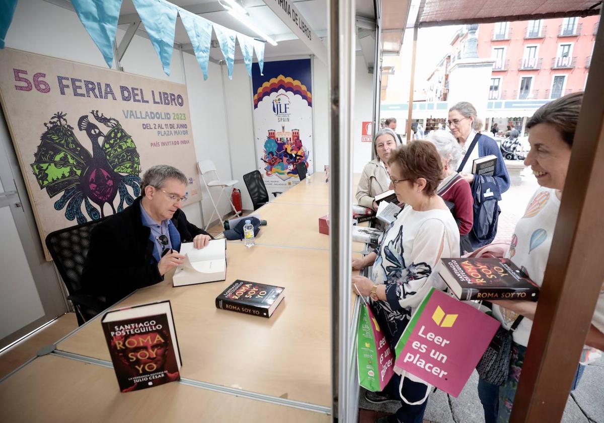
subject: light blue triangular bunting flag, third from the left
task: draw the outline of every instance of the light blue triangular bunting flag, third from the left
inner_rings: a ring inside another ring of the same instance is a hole
[[[155,48],[164,66],[164,72],[170,76],[170,62],[174,49],[174,31],[178,8],[163,0],[132,0],[137,8],[151,44]]]

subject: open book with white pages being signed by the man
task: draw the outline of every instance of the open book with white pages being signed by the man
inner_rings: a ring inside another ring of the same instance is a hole
[[[181,254],[185,261],[176,268],[174,286],[225,280],[226,239],[213,239],[200,250],[193,247],[193,242],[187,242],[182,244]]]

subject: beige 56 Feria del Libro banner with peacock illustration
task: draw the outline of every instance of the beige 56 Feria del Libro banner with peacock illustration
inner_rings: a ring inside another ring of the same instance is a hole
[[[42,245],[128,207],[155,164],[201,200],[185,85],[4,49],[0,99]]]

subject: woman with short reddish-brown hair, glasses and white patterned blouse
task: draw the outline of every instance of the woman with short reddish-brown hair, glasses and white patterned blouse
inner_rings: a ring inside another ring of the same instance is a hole
[[[413,141],[394,150],[390,187],[406,205],[388,225],[376,250],[352,262],[353,270],[373,265],[371,279],[353,277],[352,289],[370,297],[379,326],[393,347],[429,289],[444,288],[437,272],[432,271],[440,257],[460,256],[457,224],[436,193],[442,172],[439,153],[428,141]],[[367,392],[365,398],[374,403],[401,401],[396,415],[379,422],[421,423],[427,389],[414,376],[401,381],[394,375],[383,392]]]

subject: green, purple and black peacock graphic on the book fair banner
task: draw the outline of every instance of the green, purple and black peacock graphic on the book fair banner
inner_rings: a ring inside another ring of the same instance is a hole
[[[40,189],[46,189],[53,198],[63,195],[54,203],[56,210],[65,209],[65,217],[78,224],[88,219],[82,213],[82,202],[92,220],[104,217],[104,205],[109,204],[113,213],[115,197],[119,194],[117,212],[124,209],[124,203],[132,204],[140,194],[140,157],[132,137],[114,118],[91,111],[98,123],[109,130],[103,134],[88,115],[79,118],[77,126],[86,132],[92,143],[92,156],[80,144],[73,127],[67,123],[66,114],[57,112],[45,123],[46,131],[40,136],[40,145],[31,164]],[[134,197],[127,186],[132,187]],[[95,207],[91,203],[98,206]]]

